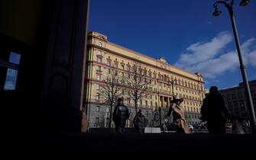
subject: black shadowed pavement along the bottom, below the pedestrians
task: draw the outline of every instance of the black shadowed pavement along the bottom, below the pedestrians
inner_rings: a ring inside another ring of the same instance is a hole
[[[14,155],[25,159],[256,158],[254,135],[40,133],[13,145],[18,149]]]

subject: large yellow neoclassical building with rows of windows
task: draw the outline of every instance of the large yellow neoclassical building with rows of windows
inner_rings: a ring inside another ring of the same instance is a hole
[[[173,94],[184,99],[183,107],[188,123],[199,122],[200,107],[205,94],[202,74],[171,66],[164,57],[154,59],[111,43],[107,36],[94,31],[89,33],[87,53],[84,106],[90,127],[106,127],[109,123],[109,106],[103,103],[99,95],[105,76],[110,71],[126,75],[135,64],[143,69],[152,82],[151,88],[147,90],[147,98],[141,98],[138,102],[138,109],[143,111],[149,125],[159,125],[161,120],[164,122]],[[125,105],[131,110],[128,126],[132,126],[134,104],[125,98]]]

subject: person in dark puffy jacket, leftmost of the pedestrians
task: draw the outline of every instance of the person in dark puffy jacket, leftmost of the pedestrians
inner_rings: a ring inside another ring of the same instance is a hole
[[[130,113],[128,107],[123,104],[123,98],[118,98],[118,104],[115,106],[113,113],[116,133],[124,133],[125,123],[129,116]]]

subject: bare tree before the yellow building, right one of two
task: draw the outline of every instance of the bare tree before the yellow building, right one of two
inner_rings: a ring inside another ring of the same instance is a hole
[[[134,101],[135,113],[137,113],[138,101],[146,98],[147,90],[151,88],[151,80],[147,78],[147,70],[134,64],[128,72],[127,78],[128,96]]]

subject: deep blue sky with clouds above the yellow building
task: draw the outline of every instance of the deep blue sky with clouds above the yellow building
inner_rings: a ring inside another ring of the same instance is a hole
[[[227,9],[213,17],[213,0],[92,0],[89,31],[173,66],[202,72],[206,88],[241,82],[238,56]],[[248,79],[256,79],[256,2],[234,12]]]

